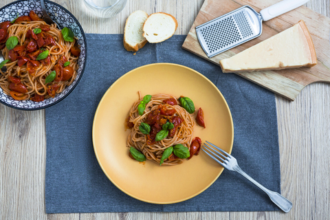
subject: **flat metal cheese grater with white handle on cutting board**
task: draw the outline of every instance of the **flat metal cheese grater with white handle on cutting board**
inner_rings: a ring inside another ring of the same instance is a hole
[[[217,19],[196,27],[197,39],[211,58],[246,41],[255,39],[263,30],[262,21],[298,8],[309,0],[284,0],[261,10],[260,14],[245,5]]]

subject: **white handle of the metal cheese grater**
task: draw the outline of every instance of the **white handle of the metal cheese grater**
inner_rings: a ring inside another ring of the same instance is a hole
[[[278,15],[298,8],[299,6],[307,3],[307,1],[309,0],[283,0],[275,5],[261,10],[260,14],[261,17],[263,17],[263,21],[268,21],[270,19],[274,19],[274,17],[278,17]]]

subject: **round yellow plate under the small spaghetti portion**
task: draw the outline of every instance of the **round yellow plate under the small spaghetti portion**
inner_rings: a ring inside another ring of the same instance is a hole
[[[115,186],[135,199],[149,203],[177,203],[199,195],[222,173],[223,167],[201,151],[177,166],[137,162],[129,157],[124,122],[133,102],[147,94],[187,96],[204,111],[206,129],[195,127],[194,137],[208,140],[231,153],[234,140],[232,115],[220,91],[193,69],[155,63],[133,69],[104,94],[96,110],[93,144],[98,162]]]

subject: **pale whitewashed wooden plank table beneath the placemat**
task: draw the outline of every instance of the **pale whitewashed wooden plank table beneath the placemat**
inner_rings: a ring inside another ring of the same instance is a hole
[[[12,2],[1,0],[0,7]],[[176,34],[187,34],[203,0],[129,0],[111,19],[94,17],[83,0],[55,0],[87,33],[122,34],[135,10],[167,12]],[[307,7],[330,17],[330,0]],[[322,28],[322,27],[320,27]],[[307,86],[294,102],[276,96],[282,194],[294,203],[284,212],[121,212],[45,214],[45,111],[19,111],[0,104],[0,219],[329,219],[330,85]],[[263,192],[261,192],[263,193]]]

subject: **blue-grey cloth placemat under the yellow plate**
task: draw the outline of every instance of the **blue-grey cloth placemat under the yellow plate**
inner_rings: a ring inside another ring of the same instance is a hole
[[[234,121],[232,155],[256,181],[281,192],[274,94],[234,74],[223,74],[219,66],[181,49],[185,38],[175,35],[163,43],[146,44],[133,56],[124,50],[122,34],[87,34],[83,78],[72,94],[45,111],[47,213],[279,210],[263,191],[228,170],[200,195],[169,205],[133,199],[102,172],[94,154],[91,130],[104,92],[136,67],[177,63],[197,70],[219,88]]]

